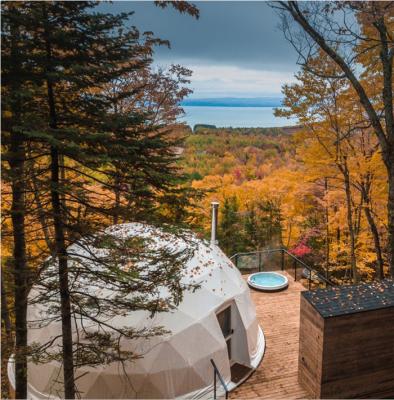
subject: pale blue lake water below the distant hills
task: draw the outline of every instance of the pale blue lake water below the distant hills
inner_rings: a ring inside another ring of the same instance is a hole
[[[233,128],[272,128],[296,125],[296,118],[277,118],[273,107],[202,107],[184,106],[185,115],[181,118],[193,127],[196,124],[209,124],[216,127]]]

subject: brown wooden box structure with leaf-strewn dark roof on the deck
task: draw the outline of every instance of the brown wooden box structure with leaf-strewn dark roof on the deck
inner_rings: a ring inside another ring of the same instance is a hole
[[[303,292],[300,384],[314,398],[394,398],[394,283]]]

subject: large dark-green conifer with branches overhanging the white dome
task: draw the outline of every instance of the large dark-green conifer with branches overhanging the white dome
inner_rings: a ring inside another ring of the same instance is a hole
[[[181,138],[168,126],[179,114],[178,100],[187,94],[187,90],[180,88],[186,83],[187,71],[174,67],[162,79],[170,84],[167,94],[171,101],[156,106],[156,112],[165,115],[160,120],[153,117],[155,110],[146,101],[149,95],[152,104],[157,100],[158,90],[153,90],[152,85],[134,85],[109,96],[108,86],[119,79],[131,76],[138,83],[138,77],[148,75],[149,81],[153,80],[152,48],[162,42],[149,33],[141,37],[135,28],[124,28],[130,14],[92,13],[96,4],[20,5],[24,14],[20,22],[22,41],[31,50],[23,54],[23,63],[29,70],[23,78],[34,88],[35,127],[24,132],[32,144],[29,158],[34,172],[29,185],[34,188],[36,213],[45,230],[47,251],[53,256],[41,270],[38,287],[45,289],[39,290],[35,301],[51,304],[51,313],[55,315],[48,318],[58,318],[59,313],[62,320],[61,354],[48,354],[48,343],[37,344],[32,350],[35,361],[48,357],[62,360],[66,398],[75,397],[74,371],[79,365],[128,358],[130,355],[119,348],[120,337],[160,333],[149,328],[137,332],[125,327],[112,329],[109,336],[90,335],[75,343],[73,316],[94,318],[94,312],[103,309],[106,316],[122,315],[130,309],[168,311],[186,289],[180,276],[188,254],[174,254],[169,249],[159,254],[150,252],[148,244],[116,240],[104,228],[115,215],[121,215],[123,221],[167,223],[174,219],[174,204],[179,207],[177,222],[188,218],[190,189],[181,187],[183,179],[176,165],[176,147]],[[136,100],[134,108],[126,113],[116,112],[114,105],[125,100],[130,104],[131,99]],[[116,199],[112,197],[114,191]],[[88,249],[97,268],[101,268],[100,274],[83,260],[72,260],[69,249],[73,244]],[[95,258],[97,247],[108,249],[111,257]],[[148,276],[146,285],[136,280],[141,274],[136,260],[141,259],[158,268]],[[124,272],[124,263],[136,267]],[[92,294],[83,285],[74,282],[71,286],[70,276],[73,281],[76,276],[84,276],[82,282],[96,282],[97,289],[109,282],[117,283],[119,294],[115,300],[97,297],[95,302],[88,302]],[[160,285],[169,288],[167,298],[151,301],[144,297]],[[125,296],[131,292],[136,297],[126,301]],[[111,330],[110,326],[106,328]],[[16,365],[16,374],[24,374],[26,382],[26,359],[23,363]]]

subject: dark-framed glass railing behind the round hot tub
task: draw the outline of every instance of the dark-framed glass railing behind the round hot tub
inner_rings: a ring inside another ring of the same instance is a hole
[[[327,276],[324,276],[286,249],[236,253],[230,259],[243,273],[281,269],[290,274],[295,281],[300,281],[308,290],[335,286]]]

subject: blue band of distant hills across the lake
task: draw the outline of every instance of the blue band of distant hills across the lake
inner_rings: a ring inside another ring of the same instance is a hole
[[[181,105],[189,107],[280,107],[282,99],[280,97],[186,99],[182,101]]]

